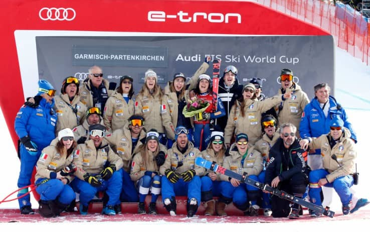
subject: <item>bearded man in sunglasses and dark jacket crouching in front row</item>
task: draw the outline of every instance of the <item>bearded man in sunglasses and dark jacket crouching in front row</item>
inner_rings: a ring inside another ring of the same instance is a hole
[[[265,184],[302,198],[308,184],[309,167],[307,151],[301,149],[295,133],[296,127],[291,123],[282,124],[280,138],[270,149]],[[299,205],[294,203],[290,209],[290,201],[272,196],[271,209],[273,217],[299,217]],[[290,212],[291,211],[291,212]],[[290,214],[289,214],[290,213]]]

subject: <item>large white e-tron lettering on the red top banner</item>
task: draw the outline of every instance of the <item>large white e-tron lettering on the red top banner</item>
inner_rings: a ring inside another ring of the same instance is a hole
[[[195,12],[193,15],[188,12],[179,11],[175,15],[167,14],[164,11],[149,11],[148,21],[150,22],[166,22],[166,19],[178,19],[181,23],[197,23],[208,21],[210,23],[225,23],[236,22],[242,23],[242,16],[238,13],[205,13]]]

